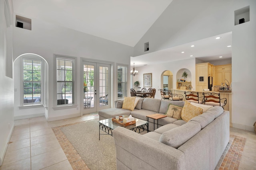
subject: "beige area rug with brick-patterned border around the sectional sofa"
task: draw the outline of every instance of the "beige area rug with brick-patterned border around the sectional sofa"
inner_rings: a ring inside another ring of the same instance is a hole
[[[96,120],[53,127],[62,149],[74,170],[115,170],[114,138],[101,135]],[[101,131],[101,133],[104,133]],[[246,138],[230,135],[230,142],[216,170],[236,170],[239,167]]]

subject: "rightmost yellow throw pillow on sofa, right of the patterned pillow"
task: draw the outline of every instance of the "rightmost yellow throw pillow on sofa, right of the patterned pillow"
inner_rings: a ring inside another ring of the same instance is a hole
[[[203,113],[203,109],[201,107],[196,107],[190,104],[190,102],[185,101],[185,104],[181,111],[181,118],[182,120],[188,122],[193,117],[196,117],[202,113]]]

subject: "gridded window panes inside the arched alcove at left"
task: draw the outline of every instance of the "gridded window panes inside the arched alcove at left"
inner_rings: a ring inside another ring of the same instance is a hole
[[[23,105],[41,104],[42,61],[22,60],[23,70]]]

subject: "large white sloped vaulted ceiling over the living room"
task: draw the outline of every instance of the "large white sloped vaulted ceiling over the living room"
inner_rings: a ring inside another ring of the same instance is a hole
[[[134,47],[172,0],[12,0],[14,12]]]

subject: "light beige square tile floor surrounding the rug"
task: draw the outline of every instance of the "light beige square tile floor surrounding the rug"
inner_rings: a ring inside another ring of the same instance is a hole
[[[15,121],[15,128],[0,170],[72,170],[52,127],[98,119],[92,114],[47,122],[45,117]],[[239,170],[256,169],[256,134],[230,128],[230,134],[246,138]]]

